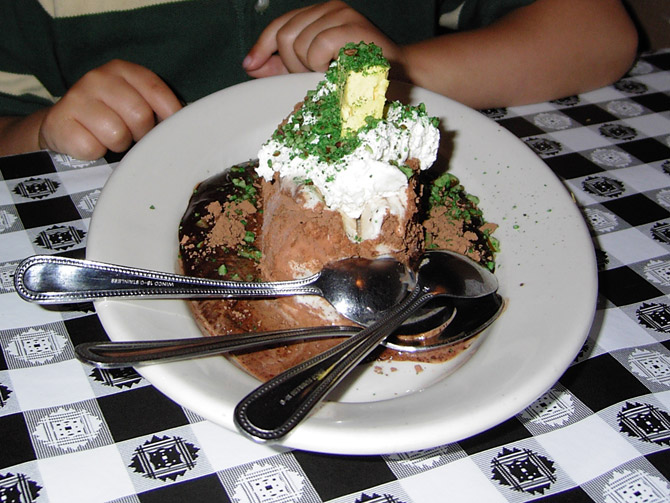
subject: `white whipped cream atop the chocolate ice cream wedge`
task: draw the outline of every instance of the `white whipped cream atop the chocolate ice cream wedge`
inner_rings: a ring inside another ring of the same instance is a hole
[[[324,92],[332,87],[323,86],[312,99]],[[309,126],[315,118],[304,113],[299,121],[291,115],[284,128]],[[267,181],[279,173],[281,180],[316,189],[329,209],[340,212],[350,239],[374,239],[387,212],[404,216],[408,178],[399,166],[416,159],[424,170],[435,162],[440,138],[435,122],[422,108],[390,103],[385,119],[358,132],[360,144],[352,152],[330,162],[305,155],[275,135],[258,153],[257,172]],[[312,138],[312,143],[317,141]]]

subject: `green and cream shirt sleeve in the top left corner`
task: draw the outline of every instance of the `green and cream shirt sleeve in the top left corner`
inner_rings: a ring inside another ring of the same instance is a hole
[[[53,104],[64,86],[50,16],[34,0],[0,0],[0,33],[0,116]]]

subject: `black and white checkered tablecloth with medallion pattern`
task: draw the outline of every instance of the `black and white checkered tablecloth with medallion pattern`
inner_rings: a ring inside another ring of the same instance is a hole
[[[516,417],[386,456],[258,445],[132,368],[77,361],[76,344],[107,338],[93,305],[28,304],[12,275],[29,255],[83,257],[118,159],[0,158],[0,502],[670,501],[670,51],[643,56],[607,88],[482,113],[583,209],[599,264],[596,319],[577,360]]]

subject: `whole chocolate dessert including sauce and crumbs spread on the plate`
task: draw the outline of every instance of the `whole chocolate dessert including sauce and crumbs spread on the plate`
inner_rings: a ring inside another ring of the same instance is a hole
[[[258,161],[196,188],[179,230],[186,274],[291,279],[352,256],[411,263],[426,247],[492,266],[494,226],[453,175],[429,169],[438,153],[438,121],[422,105],[386,103],[388,68],[378,47],[348,44],[260,147]],[[191,305],[205,334],[351,324],[315,296]],[[234,359],[264,380],[338,342],[301,342]],[[443,361],[457,350],[377,356]]]

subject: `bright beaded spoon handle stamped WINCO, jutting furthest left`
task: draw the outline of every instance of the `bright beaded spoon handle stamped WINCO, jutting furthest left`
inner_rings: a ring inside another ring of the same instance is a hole
[[[278,297],[320,295],[313,285],[319,275],[254,283],[195,278],[92,260],[36,255],[14,273],[16,292],[40,304],[67,304],[102,298]]]

